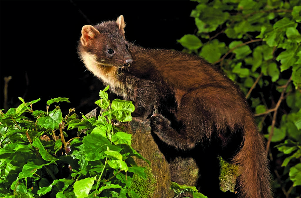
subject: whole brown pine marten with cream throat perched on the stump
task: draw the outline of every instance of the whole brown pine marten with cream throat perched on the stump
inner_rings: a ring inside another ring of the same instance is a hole
[[[234,82],[201,57],[134,45],[124,27],[122,15],[82,27],[78,53],[88,70],[132,101],[133,115],[150,118],[152,132],[169,146],[189,151],[216,138],[227,148],[239,133],[231,159],[240,167],[239,197],[271,198],[264,140]]]

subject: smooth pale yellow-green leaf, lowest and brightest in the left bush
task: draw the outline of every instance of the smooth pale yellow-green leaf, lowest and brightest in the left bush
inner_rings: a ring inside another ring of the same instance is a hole
[[[85,198],[89,195],[90,190],[94,184],[95,178],[85,178],[77,180],[74,183],[73,191],[77,198]]]

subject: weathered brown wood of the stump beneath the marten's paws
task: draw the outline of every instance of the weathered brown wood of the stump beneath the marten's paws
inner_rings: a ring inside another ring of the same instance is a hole
[[[156,142],[156,138],[151,134],[148,119],[133,118],[131,122],[122,123],[117,127],[132,134],[132,147],[151,162],[151,172],[157,180],[151,197],[172,198],[174,192],[170,189],[170,181],[196,185],[198,168],[194,159],[176,157],[168,162],[158,147],[160,142]],[[139,166],[149,166],[141,159],[135,161]]]

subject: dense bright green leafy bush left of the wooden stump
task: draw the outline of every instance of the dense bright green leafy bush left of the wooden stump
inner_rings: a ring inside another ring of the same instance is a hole
[[[129,197],[133,174],[146,179],[144,168],[133,156],[131,135],[114,131],[112,119],[131,120],[134,106],[129,101],[113,100],[108,89],[100,91],[96,103],[102,108],[96,117],[78,119],[74,109],[62,116],[55,102],[47,101],[46,111],[33,110],[40,99],[25,102],[7,113],[0,111],[0,196],[1,197]],[[25,115],[30,115],[26,117]],[[67,133],[86,129],[84,137],[65,141]],[[145,159],[144,159],[145,160]]]

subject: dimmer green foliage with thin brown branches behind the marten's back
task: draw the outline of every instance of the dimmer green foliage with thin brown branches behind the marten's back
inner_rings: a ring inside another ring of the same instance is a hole
[[[301,1],[194,0],[185,51],[220,67],[249,98],[275,167],[276,197],[301,184]],[[277,149],[273,146],[277,145]],[[277,166],[282,162],[282,168]]]

